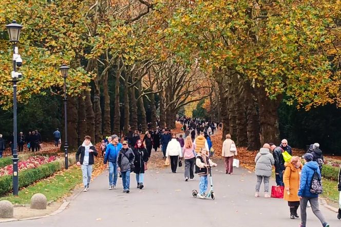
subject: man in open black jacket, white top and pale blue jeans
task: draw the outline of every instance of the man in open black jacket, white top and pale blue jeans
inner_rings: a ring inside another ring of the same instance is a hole
[[[78,147],[76,153],[76,161],[77,165],[82,165],[82,174],[83,174],[83,192],[87,192],[89,190],[91,174],[92,174],[92,165],[94,164],[94,156],[97,156],[96,147],[94,147],[91,142],[90,136],[85,136],[83,144]],[[81,159],[79,159],[79,155],[81,155]]]

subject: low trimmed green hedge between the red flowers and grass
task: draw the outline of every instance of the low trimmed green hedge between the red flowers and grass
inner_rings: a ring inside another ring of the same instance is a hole
[[[69,157],[69,165],[75,163],[74,157]],[[65,167],[64,159],[40,165],[36,168],[26,169],[19,172],[19,188],[26,187],[37,180],[52,176],[55,172]],[[13,189],[12,175],[0,177],[0,196],[11,192]]]

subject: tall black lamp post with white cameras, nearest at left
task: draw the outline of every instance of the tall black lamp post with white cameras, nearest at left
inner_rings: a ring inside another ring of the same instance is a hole
[[[17,131],[16,131],[16,82],[18,78],[21,78],[21,74],[16,72],[16,65],[21,66],[23,61],[18,54],[16,44],[19,42],[20,31],[23,28],[22,25],[17,24],[16,21],[12,21],[11,24],[6,25],[9,34],[9,41],[13,46],[13,71],[11,74],[13,82],[13,195],[17,196],[19,191],[18,181],[18,153],[17,153]]]

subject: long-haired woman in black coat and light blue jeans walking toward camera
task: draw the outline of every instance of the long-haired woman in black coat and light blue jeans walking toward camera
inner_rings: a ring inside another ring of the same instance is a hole
[[[149,135],[150,137],[150,135]],[[134,173],[136,174],[137,188],[142,189],[143,179],[144,179],[144,165],[148,162],[149,153],[147,149],[143,146],[141,140],[138,140],[134,146]]]

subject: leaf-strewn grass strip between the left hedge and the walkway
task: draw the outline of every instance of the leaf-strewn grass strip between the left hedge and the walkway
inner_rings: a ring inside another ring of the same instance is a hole
[[[82,171],[72,165],[67,171],[60,171],[50,178],[41,180],[19,191],[19,196],[7,195],[1,200],[8,200],[13,204],[29,204],[32,195],[42,193],[47,201],[56,201],[67,195],[72,188],[82,182]]]

